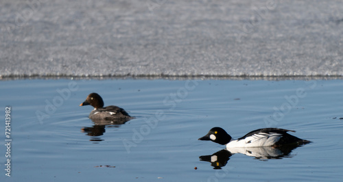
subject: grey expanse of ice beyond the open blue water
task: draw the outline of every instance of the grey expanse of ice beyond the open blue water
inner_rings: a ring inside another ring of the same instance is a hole
[[[343,75],[343,1],[0,4],[0,77]]]

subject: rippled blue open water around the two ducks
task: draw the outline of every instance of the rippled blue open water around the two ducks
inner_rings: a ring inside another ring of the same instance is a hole
[[[342,90],[340,79],[0,81],[0,181],[341,181]],[[95,125],[93,107],[79,106],[91,92],[136,118]],[[199,157],[225,146],[198,140],[212,127],[233,138],[263,127],[292,129],[311,143],[279,159],[237,153],[214,169]]]

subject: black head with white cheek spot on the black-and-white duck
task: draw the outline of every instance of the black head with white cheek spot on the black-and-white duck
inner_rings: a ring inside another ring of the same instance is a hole
[[[230,142],[231,136],[228,135],[224,129],[220,127],[214,127],[209,131],[209,133],[198,140],[211,140],[212,142],[224,145]]]

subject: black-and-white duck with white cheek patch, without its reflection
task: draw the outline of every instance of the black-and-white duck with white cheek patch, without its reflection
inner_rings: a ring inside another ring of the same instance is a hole
[[[211,140],[212,142],[226,145],[228,150],[235,147],[259,147],[259,146],[284,146],[284,145],[302,145],[308,144],[310,141],[302,140],[289,135],[288,129],[277,129],[277,128],[265,128],[251,131],[237,140],[226,133],[226,131],[220,127],[212,128],[209,133],[204,135],[199,140]],[[292,131],[295,132],[295,131]],[[230,150],[229,150],[230,151]]]

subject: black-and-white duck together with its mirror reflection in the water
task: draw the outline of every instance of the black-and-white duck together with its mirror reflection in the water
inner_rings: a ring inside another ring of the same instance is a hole
[[[218,151],[213,155],[200,156],[200,160],[209,161],[215,169],[220,169],[226,165],[230,156],[235,153],[242,153],[257,159],[281,159],[289,157],[289,153],[294,148],[310,142],[289,135],[287,131],[292,130],[276,128],[257,129],[237,140],[233,140],[224,129],[214,127],[209,133],[199,138],[199,140],[211,140],[218,144],[225,144],[226,149]]]

